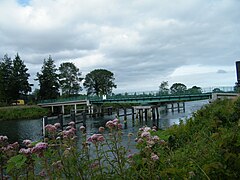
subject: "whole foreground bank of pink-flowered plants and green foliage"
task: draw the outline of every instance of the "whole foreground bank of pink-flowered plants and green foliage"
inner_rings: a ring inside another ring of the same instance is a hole
[[[44,142],[26,140],[20,150],[0,136],[0,175],[2,179],[5,175],[12,179],[240,179],[240,99],[204,106],[185,123],[165,131],[142,127],[136,138],[129,133],[128,141],[136,141],[136,153],[123,144],[120,121],[108,121],[105,127],[89,136],[81,126],[80,147],[73,122],[64,131],[59,124],[47,125]]]

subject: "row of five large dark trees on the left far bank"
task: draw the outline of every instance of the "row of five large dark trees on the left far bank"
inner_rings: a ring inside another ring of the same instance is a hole
[[[0,61],[0,103],[11,104],[17,99],[25,99],[33,86],[29,83],[29,77],[28,68],[19,54],[14,59],[4,55]],[[34,80],[39,83],[39,89],[32,93],[36,100],[55,99],[60,95],[71,97],[79,94],[83,87],[88,95],[108,95],[117,87],[111,71],[95,69],[83,78],[74,63],[64,62],[57,68],[51,56],[44,59]]]

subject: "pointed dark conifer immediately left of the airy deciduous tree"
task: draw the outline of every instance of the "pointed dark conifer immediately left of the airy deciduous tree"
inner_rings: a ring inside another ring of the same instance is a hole
[[[37,79],[39,81],[39,96],[40,99],[55,99],[59,96],[59,83],[57,68],[54,64],[54,60],[49,58],[43,61],[41,73],[37,73]]]

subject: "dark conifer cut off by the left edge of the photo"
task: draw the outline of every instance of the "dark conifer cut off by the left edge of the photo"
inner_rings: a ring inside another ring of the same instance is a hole
[[[11,97],[11,76],[12,60],[8,55],[4,55],[0,62],[0,98],[2,102],[10,103]]]

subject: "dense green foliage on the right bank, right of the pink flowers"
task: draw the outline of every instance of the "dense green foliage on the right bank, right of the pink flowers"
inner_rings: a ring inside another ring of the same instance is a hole
[[[169,149],[159,152],[168,152],[161,177],[239,179],[239,109],[240,99],[216,101],[166,130]]]

